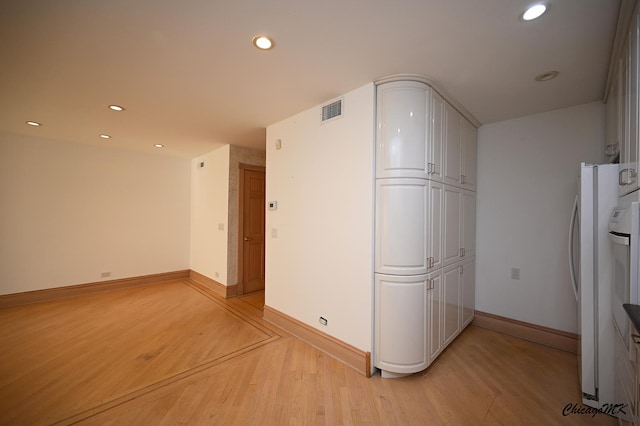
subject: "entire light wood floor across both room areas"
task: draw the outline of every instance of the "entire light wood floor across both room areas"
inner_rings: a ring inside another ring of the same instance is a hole
[[[426,371],[365,378],[189,281],[0,309],[0,425],[565,425],[573,354],[469,327]]]

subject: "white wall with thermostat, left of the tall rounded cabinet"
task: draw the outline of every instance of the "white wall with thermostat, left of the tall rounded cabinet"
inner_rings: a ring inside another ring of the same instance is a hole
[[[344,111],[321,124],[318,106],[267,128],[267,201],[278,210],[266,215],[265,298],[370,351],[374,85],[344,95]]]

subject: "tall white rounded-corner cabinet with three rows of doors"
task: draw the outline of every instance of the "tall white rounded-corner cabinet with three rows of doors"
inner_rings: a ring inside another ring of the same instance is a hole
[[[476,128],[429,84],[377,86],[374,364],[424,370],[473,319]]]

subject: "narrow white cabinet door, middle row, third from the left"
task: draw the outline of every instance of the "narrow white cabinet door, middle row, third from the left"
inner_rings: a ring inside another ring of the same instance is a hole
[[[462,190],[453,186],[444,185],[443,191],[442,223],[444,235],[442,263],[443,266],[447,266],[458,262],[462,254],[460,250]]]

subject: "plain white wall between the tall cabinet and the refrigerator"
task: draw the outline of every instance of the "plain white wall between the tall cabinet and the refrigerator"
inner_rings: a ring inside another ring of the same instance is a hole
[[[577,332],[569,216],[580,162],[604,162],[603,140],[600,102],[479,129],[477,310]]]

